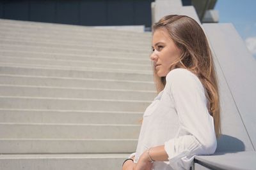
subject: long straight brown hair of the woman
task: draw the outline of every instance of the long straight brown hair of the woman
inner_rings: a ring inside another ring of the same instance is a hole
[[[207,38],[200,25],[185,15],[167,15],[152,26],[152,32],[157,29],[166,29],[170,38],[180,49],[181,55],[170,66],[170,70],[175,68],[188,69],[198,76],[205,88],[207,97],[207,108],[214,119],[214,129],[216,137],[221,136],[220,122],[220,97],[218,90],[218,80],[212,60],[212,53]],[[164,89],[165,77],[156,74],[153,67],[154,81],[157,92]]]

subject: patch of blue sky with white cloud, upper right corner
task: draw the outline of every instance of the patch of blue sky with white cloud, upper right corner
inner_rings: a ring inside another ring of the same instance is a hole
[[[219,12],[219,22],[231,22],[243,38],[248,50],[256,59],[256,1],[218,0],[214,10]]]

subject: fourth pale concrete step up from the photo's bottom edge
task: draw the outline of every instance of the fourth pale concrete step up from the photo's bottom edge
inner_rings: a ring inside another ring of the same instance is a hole
[[[140,125],[142,117],[143,112],[129,111],[0,109],[1,123]]]

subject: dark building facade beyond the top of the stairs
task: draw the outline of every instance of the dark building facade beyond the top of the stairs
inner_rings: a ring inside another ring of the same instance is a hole
[[[151,25],[154,0],[0,0],[0,18],[74,25]],[[191,5],[191,0],[183,0]]]

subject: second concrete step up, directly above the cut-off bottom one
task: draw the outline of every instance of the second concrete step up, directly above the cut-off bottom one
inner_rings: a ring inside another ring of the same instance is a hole
[[[137,143],[138,139],[0,139],[0,153],[129,153]]]

